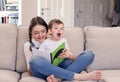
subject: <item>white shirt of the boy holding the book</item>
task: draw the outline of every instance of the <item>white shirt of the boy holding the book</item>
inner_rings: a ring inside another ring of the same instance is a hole
[[[53,41],[50,38],[48,38],[44,42],[42,42],[42,44],[39,47],[39,50],[53,52],[63,42],[65,42],[65,48],[69,50],[69,46],[65,38],[61,38],[59,41]]]

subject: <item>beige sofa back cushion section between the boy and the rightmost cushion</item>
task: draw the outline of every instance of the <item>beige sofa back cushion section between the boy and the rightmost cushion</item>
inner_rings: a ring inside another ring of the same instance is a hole
[[[84,50],[84,33],[81,27],[66,27],[64,37],[74,55],[78,56]]]

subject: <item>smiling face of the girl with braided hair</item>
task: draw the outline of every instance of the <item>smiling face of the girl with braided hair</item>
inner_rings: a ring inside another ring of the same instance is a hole
[[[46,39],[46,36],[47,36],[47,30],[46,30],[45,26],[36,25],[33,27],[32,39],[34,39],[38,42],[43,42]]]

